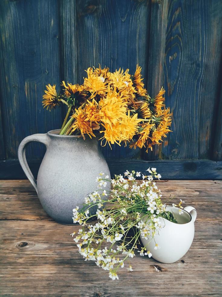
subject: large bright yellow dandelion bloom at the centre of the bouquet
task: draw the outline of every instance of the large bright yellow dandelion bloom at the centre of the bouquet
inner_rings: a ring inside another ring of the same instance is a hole
[[[126,102],[116,89],[111,90],[108,87],[108,93],[106,98],[101,98],[98,102],[100,106],[100,116],[103,123],[109,124],[111,127],[115,125],[119,118],[123,118],[126,115]]]

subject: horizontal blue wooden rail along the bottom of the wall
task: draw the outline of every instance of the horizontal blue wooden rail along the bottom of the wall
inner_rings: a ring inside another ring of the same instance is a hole
[[[29,160],[31,172],[37,178],[41,160]],[[145,172],[156,167],[163,179],[222,179],[222,161],[211,160],[107,160],[111,176],[126,169]],[[0,160],[0,179],[26,179],[17,159]]]

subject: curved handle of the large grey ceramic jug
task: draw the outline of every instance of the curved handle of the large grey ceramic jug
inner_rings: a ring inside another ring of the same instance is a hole
[[[25,175],[27,176],[27,178],[29,179],[29,181],[31,182],[31,184],[37,192],[37,182],[33,174],[31,173],[25,156],[26,146],[31,141],[42,142],[44,145],[46,145],[47,148],[49,144],[49,139],[47,134],[33,134],[24,138],[18,147],[18,160],[21,165],[21,168],[23,169]]]

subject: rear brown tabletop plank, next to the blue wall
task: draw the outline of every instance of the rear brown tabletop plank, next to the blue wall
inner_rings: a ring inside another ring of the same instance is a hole
[[[222,181],[158,182],[164,202],[185,201],[197,209],[197,222],[222,221]],[[209,206],[210,203],[210,206]],[[13,210],[13,211],[12,211]],[[0,181],[0,220],[50,220],[27,180]]]

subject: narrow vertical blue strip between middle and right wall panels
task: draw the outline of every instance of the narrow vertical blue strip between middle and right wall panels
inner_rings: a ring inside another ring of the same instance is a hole
[[[166,42],[168,0],[153,0],[150,15],[150,48],[148,59],[147,91],[154,98],[163,86],[163,65]],[[153,146],[153,151],[143,152],[145,160],[160,158],[161,146]]]

